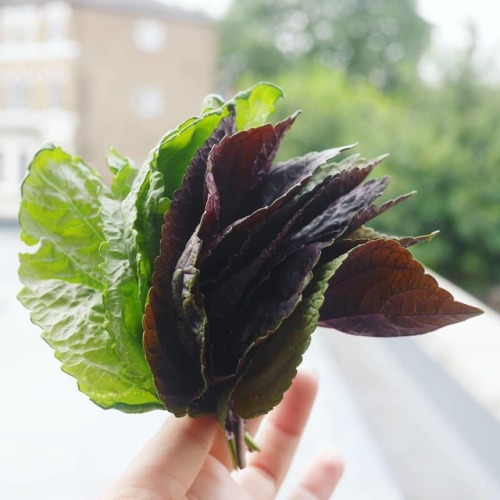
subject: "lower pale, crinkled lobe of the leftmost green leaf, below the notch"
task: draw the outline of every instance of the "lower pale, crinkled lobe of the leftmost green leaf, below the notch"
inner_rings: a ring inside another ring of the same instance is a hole
[[[122,372],[108,332],[101,294],[85,285],[60,280],[27,284],[19,300],[43,329],[62,369],[76,378],[79,389],[103,408],[127,412],[158,408],[157,398],[134,385]]]

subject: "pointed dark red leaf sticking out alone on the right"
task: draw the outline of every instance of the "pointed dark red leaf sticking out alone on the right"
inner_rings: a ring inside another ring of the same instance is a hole
[[[329,282],[320,324],[353,335],[427,333],[481,314],[456,302],[393,240],[352,250]]]

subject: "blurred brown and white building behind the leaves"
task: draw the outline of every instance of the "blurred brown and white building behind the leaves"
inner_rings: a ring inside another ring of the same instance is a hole
[[[0,1],[0,218],[46,142],[105,174],[142,162],[214,90],[213,21],[156,0]]]

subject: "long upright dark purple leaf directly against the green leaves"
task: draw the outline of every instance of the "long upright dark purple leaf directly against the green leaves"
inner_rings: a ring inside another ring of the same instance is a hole
[[[192,234],[204,211],[203,188],[208,155],[214,145],[233,128],[234,116],[222,120],[204,147],[198,150],[181,188],[174,194],[162,227],[161,251],[143,319],[144,350],[158,393],[167,408],[176,415],[186,413],[187,403],[203,391],[206,383],[201,361],[203,335],[198,331],[193,336],[181,328],[183,311],[176,308],[177,297],[172,293],[172,280],[179,259],[186,253],[186,247],[191,249],[193,246]],[[198,252],[200,247],[199,243],[195,245]],[[194,252],[191,260],[196,255]],[[195,322],[193,311],[191,314],[189,311],[184,312],[186,315]],[[199,317],[195,323],[195,329],[199,330]]]

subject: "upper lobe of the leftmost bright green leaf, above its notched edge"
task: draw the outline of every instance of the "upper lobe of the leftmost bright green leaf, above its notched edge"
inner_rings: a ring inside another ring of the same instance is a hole
[[[44,246],[40,258],[24,256],[30,268],[21,268],[23,281],[37,273],[47,279],[54,266],[59,276],[67,270],[82,284],[104,288],[99,272],[104,241],[97,200],[101,189],[101,179],[79,158],[52,147],[36,155],[22,187],[21,238],[28,245],[45,240],[51,248]],[[59,255],[64,265],[57,262]]]

